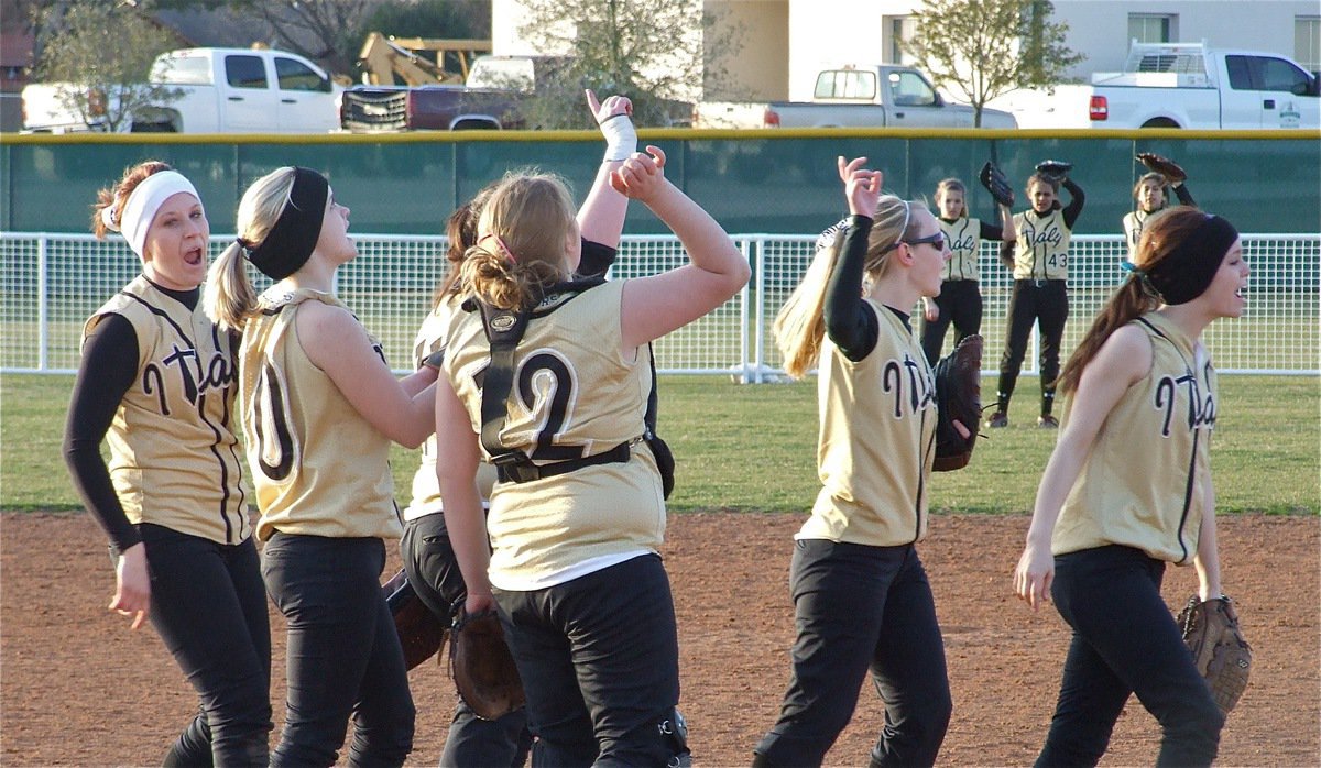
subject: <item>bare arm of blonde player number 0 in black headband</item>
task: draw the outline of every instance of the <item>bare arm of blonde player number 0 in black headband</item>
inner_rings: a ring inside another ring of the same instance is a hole
[[[406,447],[427,439],[432,433],[435,368],[423,366],[403,381],[395,379],[367,330],[338,306],[309,301],[296,325],[308,359],[371,426]]]

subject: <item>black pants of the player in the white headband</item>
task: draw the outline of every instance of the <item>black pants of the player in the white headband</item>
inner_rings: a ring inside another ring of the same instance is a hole
[[[193,684],[199,713],[166,765],[266,765],[271,625],[256,546],[144,523],[152,625]]]

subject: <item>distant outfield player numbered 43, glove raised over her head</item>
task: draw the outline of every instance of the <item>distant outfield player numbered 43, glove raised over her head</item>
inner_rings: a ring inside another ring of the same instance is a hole
[[[1059,185],[1071,199],[1063,208],[1057,197]],[[1000,385],[996,409],[987,426],[1009,426],[1009,399],[1028,351],[1032,325],[1041,330],[1041,416],[1037,426],[1054,429],[1055,376],[1059,375],[1059,342],[1069,319],[1069,239],[1082,212],[1085,195],[1071,178],[1057,182],[1034,173],[1028,178],[1032,208],[1013,216],[1015,241],[1005,243],[1000,255],[1013,248],[1013,289],[1005,321],[1004,355],[1000,358]]]

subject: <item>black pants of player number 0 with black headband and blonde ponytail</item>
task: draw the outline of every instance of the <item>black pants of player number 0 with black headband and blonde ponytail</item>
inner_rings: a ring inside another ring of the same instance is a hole
[[[379,538],[276,533],[262,575],[288,622],[288,705],[271,765],[333,765],[354,720],[353,765],[403,765],[413,703],[380,590]]]

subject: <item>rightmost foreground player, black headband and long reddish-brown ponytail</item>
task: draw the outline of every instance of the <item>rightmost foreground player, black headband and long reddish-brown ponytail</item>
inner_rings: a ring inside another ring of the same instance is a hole
[[[1161,724],[1157,765],[1210,765],[1225,717],[1161,599],[1166,563],[1221,596],[1209,449],[1218,412],[1202,330],[1243,314],[1234,227],[1178,207],[1153,216],[1129,278],[1059,379],[1069,397],[1015,571],[1073,628],[1037,765],[1095,765],[1131,693]]]

